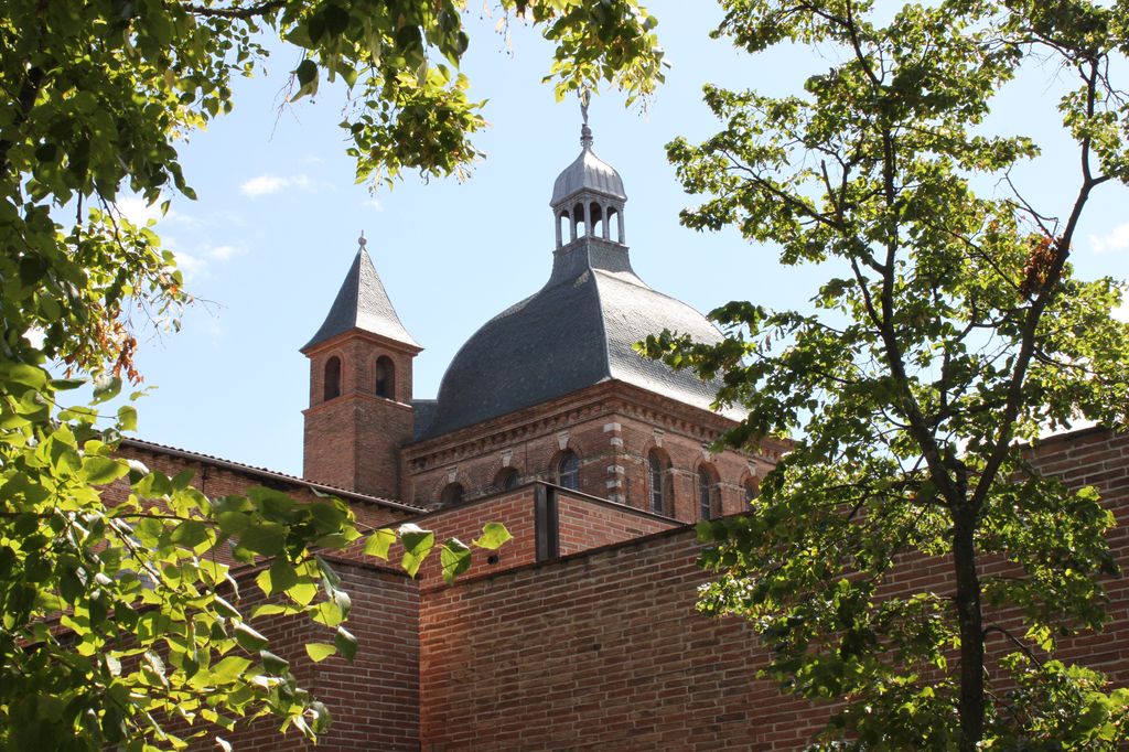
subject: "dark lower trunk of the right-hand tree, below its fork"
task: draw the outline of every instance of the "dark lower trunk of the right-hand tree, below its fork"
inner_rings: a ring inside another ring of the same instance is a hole
[[[961,752],[973,752],[984,731],[984,638],[980,612],[974,532],[977,514],[968,506],[953,513],[953,566],[956,614],[961,624]]]

